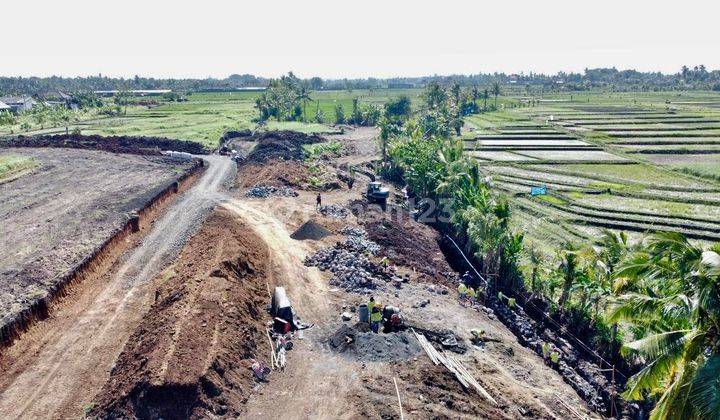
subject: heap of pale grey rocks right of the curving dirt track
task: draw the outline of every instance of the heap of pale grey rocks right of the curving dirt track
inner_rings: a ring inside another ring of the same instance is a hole
[[[347,291],[372,289],[380,282],[392,280],[391,269],[368,258],[379,253],[380,246],[368,240],[364,230],[346,226],[340,232],[347,236],[345,242],[320,249],[305,258],[305,265],[330,271],[333,273],[330,284]]]

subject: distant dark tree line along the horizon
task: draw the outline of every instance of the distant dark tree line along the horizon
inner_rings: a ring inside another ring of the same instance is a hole
[[[541,73],[478,73],[471,75],[431,75],[424,77],[394,77],[387,79],[302,79],[312,90],[386,89],[425,87],[431,82],[443,85],[458,83],[463,87],[490,86],[493,83],[540,87],[546,91],[574,91],[608,89],[613,91],[657,90],[716,90],[720,91],[720,70],[707,70],[704,65],[683,66],[677,73],[640,72],[615,68],[585,69],[583,72]],[[162,79],[135,76],[107,77],[99,74],[87,77],[0,77],[0,94],[42,95],[57,90],[133,90],[172,89],[178,92],[223,91],[244,87],[267,87],[271,78],[251,74],[233,74],[226,78]]]

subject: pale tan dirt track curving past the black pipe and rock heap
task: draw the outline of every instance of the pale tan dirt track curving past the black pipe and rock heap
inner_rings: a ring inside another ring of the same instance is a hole
[[[332,296],[327,280],[317,269],[303,264],[311,248],[291,239],[285,223],[302,219],[303,210],[311,207],[290,200],[228,200],[223,206],[240,216],[267,244],[275,283],[285,286],[303,321],[316,324],[293,349],[285,372],[274,376],[267,390],[250,397],[246,413],[257,419],[274,419],[278,413],[297,419],[352,417],[355,411],[348,396],[351,389],[360,386],[359,366],[323,346],[329,333],[325,326],[337,312],[332,305],[337,296]]]

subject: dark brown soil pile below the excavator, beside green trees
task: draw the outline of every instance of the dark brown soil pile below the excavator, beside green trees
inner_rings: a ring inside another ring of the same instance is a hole
[[[351,207],[357,206],[355,203]],[[393,264],[413,269],[418,280],[452,284],[448,279],[452,269],[440,248],[442,236],[436,230],[416,222],[407,211],[395,207],[389,212],[366,207],[357,214],[368,238],[382,246],[381,256]]]

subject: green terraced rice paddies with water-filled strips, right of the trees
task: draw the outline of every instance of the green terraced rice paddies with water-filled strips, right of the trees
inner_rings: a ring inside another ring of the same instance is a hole
[[[514,223],[546,253],[603,228],[720,240],[720,112],[556,101],[480,117],[465,149],[512,196]],[[547,187],[532,196],[531,187]]]

